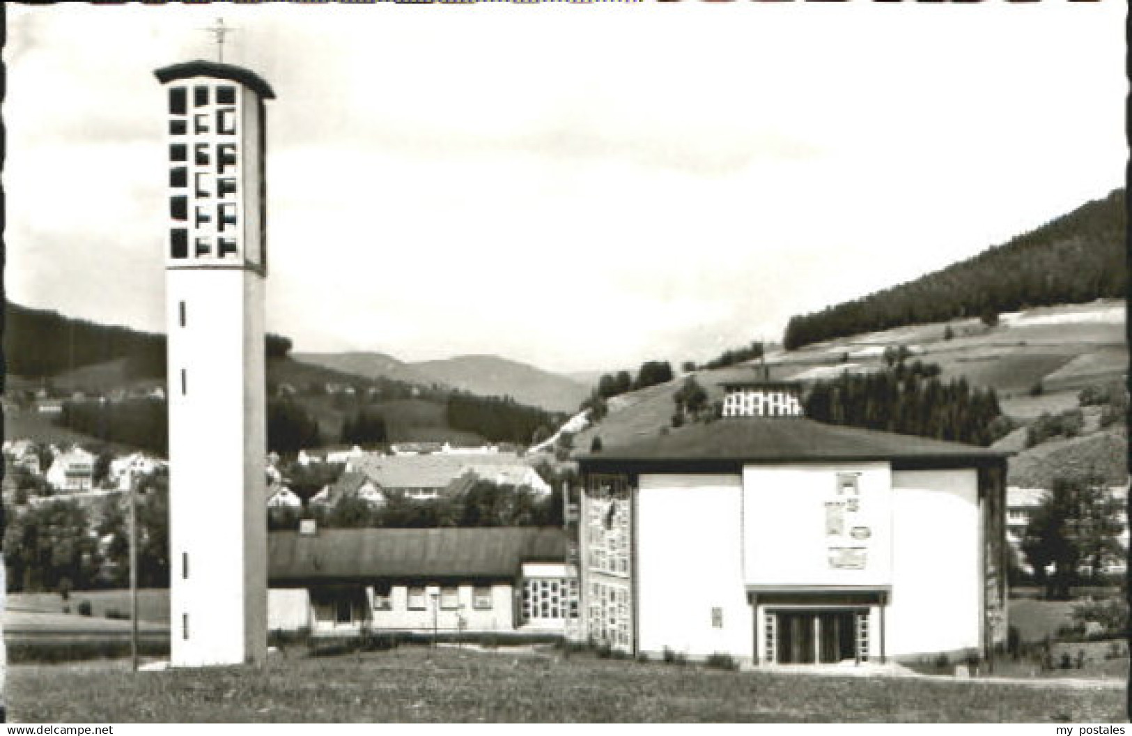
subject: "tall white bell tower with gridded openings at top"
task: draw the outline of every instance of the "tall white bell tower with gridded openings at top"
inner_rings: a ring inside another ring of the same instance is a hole
[[[266,118],[256,74],[157,69],[169,125],[170,639],[174,666],[267,648]]]

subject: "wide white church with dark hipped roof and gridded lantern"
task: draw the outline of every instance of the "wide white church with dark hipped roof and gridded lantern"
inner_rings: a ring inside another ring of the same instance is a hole
[[[1005,455],[805,419],[789,384],[580,459],[586,634],[748,664],[987,652],[1005,637]]]

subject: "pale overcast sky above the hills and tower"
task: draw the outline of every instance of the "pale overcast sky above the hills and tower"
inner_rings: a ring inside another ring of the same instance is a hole
[[[295,350],[702,360],[1122,186],[1123,2],[8,6],[8,297],[164,331],[164,97],[268,106]]]

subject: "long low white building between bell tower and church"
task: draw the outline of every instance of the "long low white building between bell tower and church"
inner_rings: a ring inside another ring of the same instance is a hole
[[[566,536],[544,528],[268,534],[268,628],[560,634],[577,618]]]

